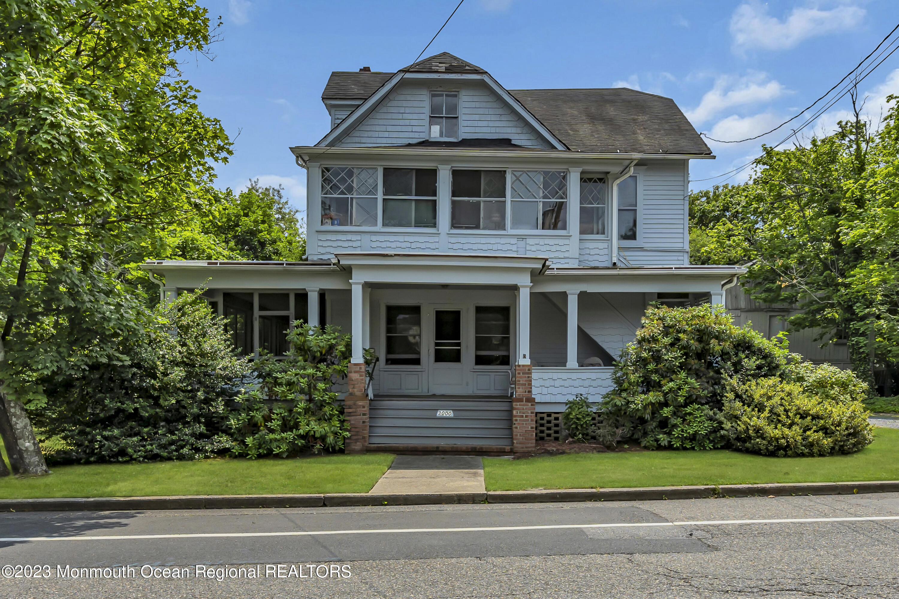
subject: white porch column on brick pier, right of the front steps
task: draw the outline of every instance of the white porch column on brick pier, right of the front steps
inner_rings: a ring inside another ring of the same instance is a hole
[[[530,283],[518,286],[518,355],[512,398],[512,451],[530,452],[537,441],[535,401],[530,366]]]

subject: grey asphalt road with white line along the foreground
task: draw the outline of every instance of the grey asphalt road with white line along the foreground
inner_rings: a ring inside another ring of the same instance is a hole
[[[896,597],[899,520],[756,522],[878,516],[899,494],[3,514],[0,597]]]

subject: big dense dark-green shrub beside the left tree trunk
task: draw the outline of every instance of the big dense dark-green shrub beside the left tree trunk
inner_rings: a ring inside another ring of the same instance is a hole
[[[48,387],[35,425],[53,437],[53,462],[197,460],[231,445],[223,434],[232,383],[250,365],[200,292],[157,305],[122,359]]]

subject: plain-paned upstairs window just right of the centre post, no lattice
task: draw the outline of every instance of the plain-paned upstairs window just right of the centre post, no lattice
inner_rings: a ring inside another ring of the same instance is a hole
[[[452,171],[452,228],[504,231],[505,171]]]

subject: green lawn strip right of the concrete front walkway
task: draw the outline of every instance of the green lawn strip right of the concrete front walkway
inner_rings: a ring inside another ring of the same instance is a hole
[[[716,450],[485,458],[484,478],[491,491],[899,480],[899,429],[878,427],[874,443],[850,455],[777,458]]]

